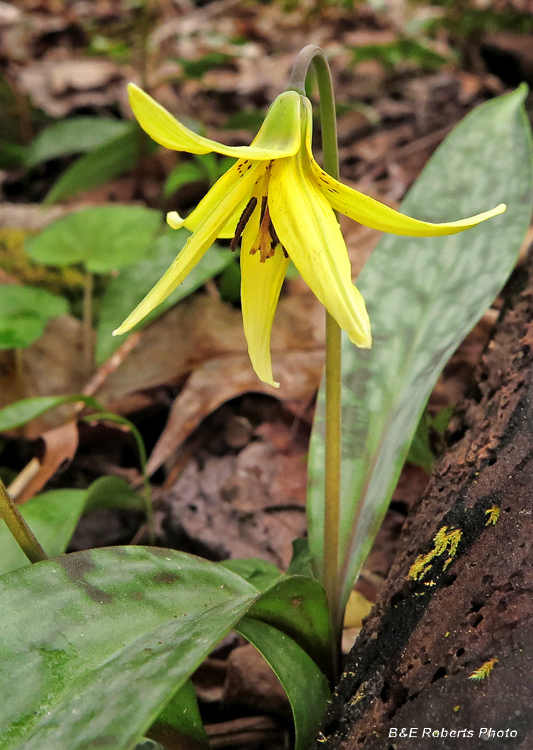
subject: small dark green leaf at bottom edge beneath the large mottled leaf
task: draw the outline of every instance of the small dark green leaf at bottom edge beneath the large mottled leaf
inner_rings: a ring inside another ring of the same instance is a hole
[[[184,750],[209,747],[191,680],[187,680],[167,703],[149,733],[168,742],[170,747],[184,746]]]

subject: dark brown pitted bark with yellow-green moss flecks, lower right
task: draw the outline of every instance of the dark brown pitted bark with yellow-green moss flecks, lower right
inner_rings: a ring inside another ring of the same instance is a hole
[[[532,321],[530,257],[347,658],[317,750],[533,748]],[[492,659],[485,679],[469,679]],[[480,737],[482,728],[504,734]]]

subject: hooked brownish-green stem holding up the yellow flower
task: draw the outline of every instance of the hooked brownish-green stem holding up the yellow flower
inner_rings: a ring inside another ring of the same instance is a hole
[[[289,89],[305,96],[305,81],[313,64],[320,96],[320,123],[324,169],[339,178],[337,118],[335,97],[328,62],[320,47],[309,44],[296,58]],[[326,465],[324,507],[324,568],[323,584],[328,599],[332,628],[334,672],[340,666],[340,642],[343,612],[339,581],[340,479],[341,479],[341,329],[326,312]]]

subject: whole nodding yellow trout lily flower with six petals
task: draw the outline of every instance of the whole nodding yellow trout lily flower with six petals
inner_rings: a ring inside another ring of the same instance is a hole
[[[334,211],[367,227],[393,234],[433,237],[454,234],[505,211],[492,211],[445,224],[412,219],[330,177],[311,152],[311,102],[285,91],[272,103],[250,146],[224,146],[178,122],[134,84],[131,108],[141,127],[166,148],[238,159],[186,219],[168,214],[171,227],[192,231],[168,271],[124,323],[125,333],[181,284],[217,237],[241,242],[241,302],[248,353],[258,377],[272,375],[270,335],[289,264],[357,346],[372,344],[364,300],[352,283],[346,245]]]

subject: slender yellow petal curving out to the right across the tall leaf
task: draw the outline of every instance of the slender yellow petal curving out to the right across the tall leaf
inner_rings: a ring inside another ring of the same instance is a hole
[[[484,211],[460,221],[449,221],[443,224],[419,221],[395,211],[384,203],[364,195],[364,193],[359,193],[357,190],[343,185],[342,182],[338,182],[326,174],[313,159],[312,154],[310,154],[310,158],[320,189],[333,208],[366,227],[379,229],[382,232],[402,234],[409,237],[440,237],[446,234],[457,234],[457,232],[470,229],[493,216],[498,216],[506,209],[505,203],[500,203],[491,211]]]

